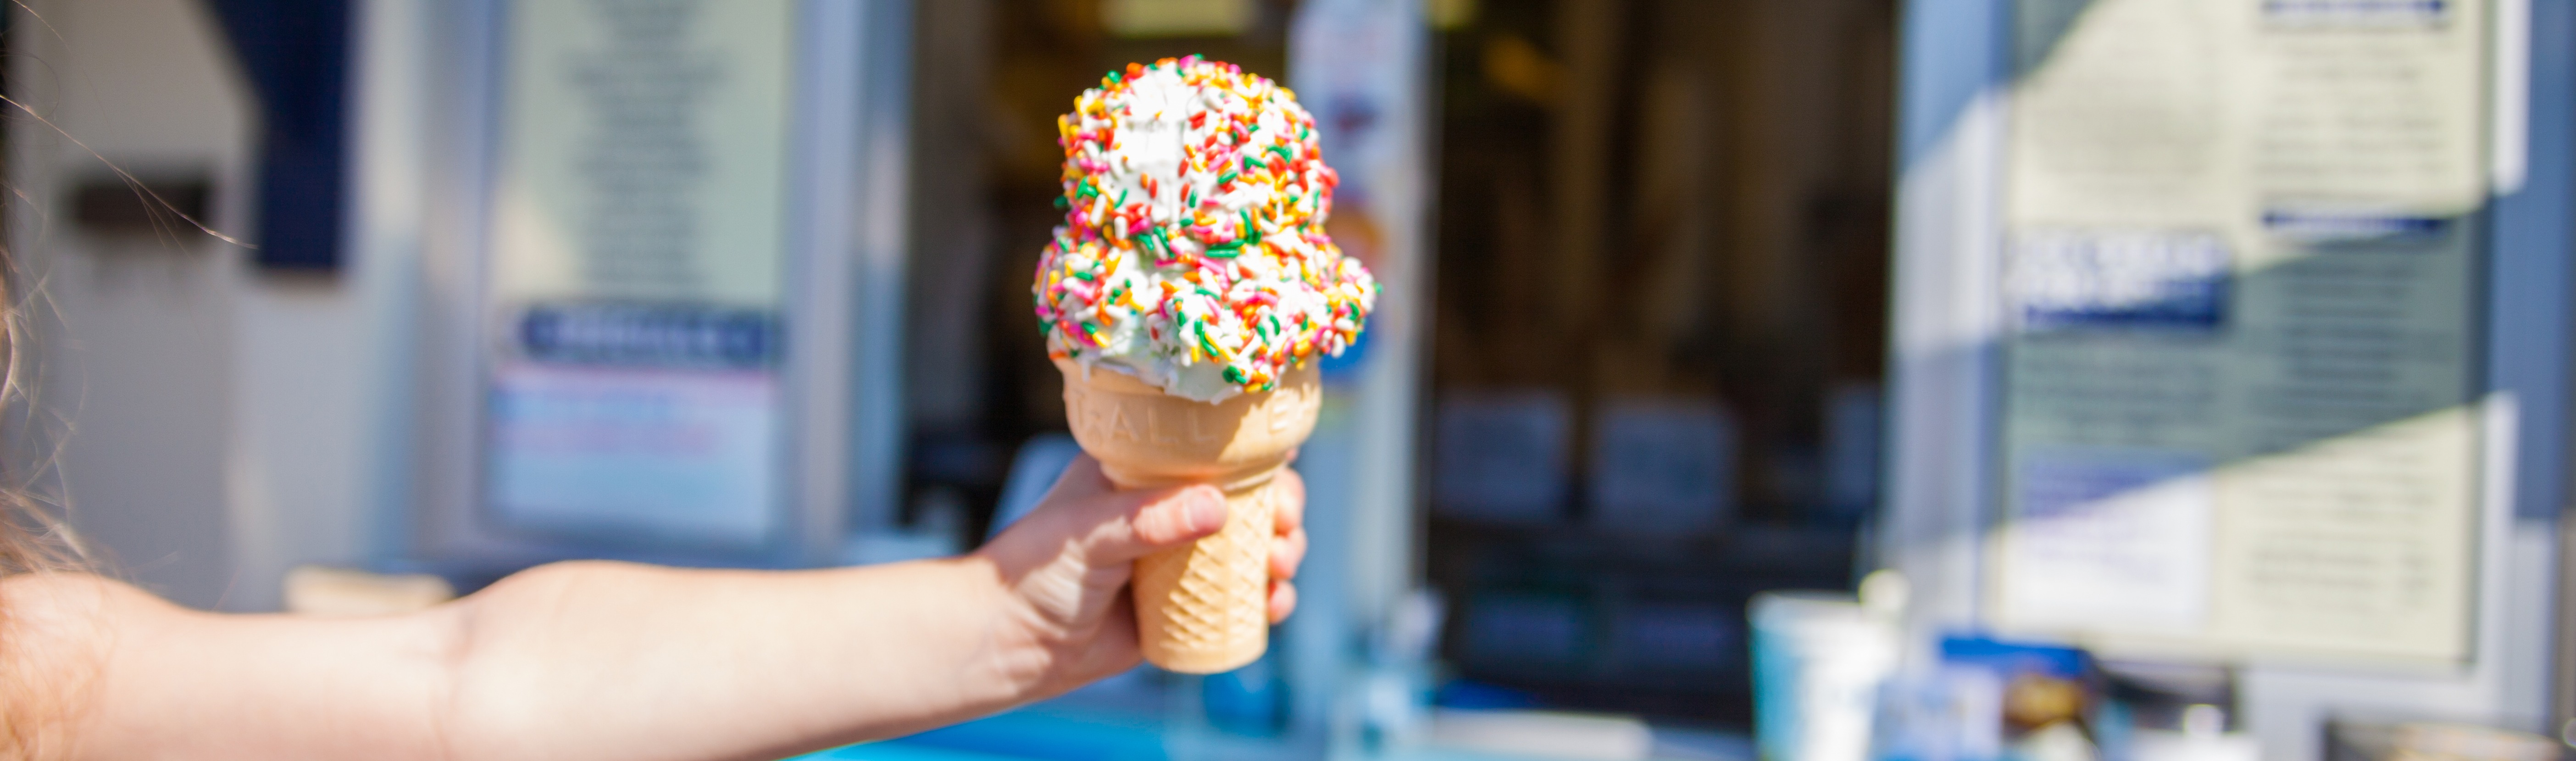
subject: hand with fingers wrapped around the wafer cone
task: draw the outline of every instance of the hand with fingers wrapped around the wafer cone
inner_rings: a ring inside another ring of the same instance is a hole
[[[1280,469],[1288,498],[1270,549],[1270,622],[1296,609],[1298,560],[1306,557],[1306,482]],[[1136,606],[1128,568],[1154,549],[1177,547],[1226,526],[1216,488],[1121,493],[1090,454],[1056,477],[1028,519],[976,549],[1007,588],[994,658],[1030,697],[1051,697],[1133,668]]]

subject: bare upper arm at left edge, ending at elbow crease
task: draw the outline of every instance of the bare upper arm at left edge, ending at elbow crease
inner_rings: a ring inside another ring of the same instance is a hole
[[[59,743],[33,758],[443,758],[435,617],[224,617],[90,578],[15,578],[10,655],[33,655]],[[0,699],[13,699],[0,686]],[[15,758],[15,756],[13,756]]]

